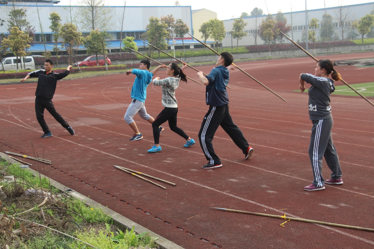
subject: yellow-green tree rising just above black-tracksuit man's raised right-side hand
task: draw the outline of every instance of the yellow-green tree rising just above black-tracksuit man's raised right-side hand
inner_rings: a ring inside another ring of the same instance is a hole
[[[62,25],[60,37],[64,40],[62,46],[65,47],[69,55],[68,62],[70,65],[73,65],[73,58],[75,58],[79,46],[83,44],[82,33],[78,31],[74,24],[67,23]]]

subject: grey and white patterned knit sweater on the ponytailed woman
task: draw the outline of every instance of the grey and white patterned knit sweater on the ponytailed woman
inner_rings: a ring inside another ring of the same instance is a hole
[[[165,107],[177,108],[178,102],[175,98],[175,90],[179,85],[179,78],[168,77],[162,80],[153,80],[153,85],[161,85],[162,105]]]

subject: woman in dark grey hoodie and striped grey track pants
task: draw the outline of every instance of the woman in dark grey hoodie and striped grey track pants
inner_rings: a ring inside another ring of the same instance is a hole
[[[325,183],[343,184],[338,154],[332,142],[331,129],[333,125],[330,94],[334,92],[334,81],[341,80],[340,74],[334,70],[331,60],[319,60],[315,75],[300,74],[300,90],[305,90],[305,83],[311,85],[309,95],[309,119],[312,121],[312,135],[310,136],[309,158],[312,163],[314,180],[304,190],[323,190]],[[325,157],[327,166],[332,174],[329,180],[322,177],[322,157]]]

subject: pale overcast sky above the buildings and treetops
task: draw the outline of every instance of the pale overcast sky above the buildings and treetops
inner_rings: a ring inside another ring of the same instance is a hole
[[[176,0],[126,0],[126,6],[174,6]],[[77,4],[80,0],[60,0],[59,5],[83,5]],[[197,9],[208,9],[217,13],[219,20],[227,20],[232,18],[238,18],[242,12],[248,14],[257,7],[262,9],[264,14],[276,14],[279,10],[282,13],[295,12],[305,10],[305,4],[307,9],[323,9],[325,6],[336,7],[360,3],[373,3],[374,0],[258,0],[257,3],[249,0],[231,0],[228,3],[224,3],[224,0],[220,1],[204,1],[204,0],[179,0],[181,6],[191,6],[192,10]],[[105,0],[106,6],[123,6],[125,0]],[[140,5],[141,3],[141,5]],[[325,5],[326,4],[326,5]]]

